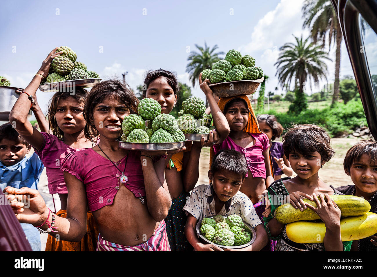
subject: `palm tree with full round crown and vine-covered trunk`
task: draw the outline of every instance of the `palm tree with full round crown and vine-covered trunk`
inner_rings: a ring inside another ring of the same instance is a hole
[[[309,80],[311,87],[312,82],[319,86],[320,79],[325,78],[327,80],[327,65],[324,60],[331,59],[322,50],[322,46],[308,42],[309,38],[303,40],[302,35],[301,38],[294,38],[296,39],[296,44],[285,43],[280,47],[279,58],[274,65],[277,65],[276,75],[278,75],[279,84],[282,87],[287,83],[288,87],[290,87],[291,81],[294,81],[296,95],[294,104],[297,105],[294,110],[300,112],[300,109],[306,109],[307,107],[304,104],[306,103],[303,91],[305,82]],[[299,101],[304,102],[298,104]]]

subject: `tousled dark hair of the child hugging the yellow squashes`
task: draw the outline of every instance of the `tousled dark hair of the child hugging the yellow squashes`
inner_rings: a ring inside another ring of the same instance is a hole
[[[322,161],[328,162],[335,153],[330,143],[326,131],[314,124],[294,125],[283,135],[283,150],[287,159],[292,152],[307,155],[317,151]]]

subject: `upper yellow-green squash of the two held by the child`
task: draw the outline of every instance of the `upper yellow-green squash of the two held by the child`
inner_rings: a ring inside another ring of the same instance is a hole
[[[357,197],[353,195],[332,195],[331,199],[339,207],[341,217],[347,216],[361,216],[362,214],[368,213],[371,210],[371,204],[362,197]],[[314,201],[309,199],[303,199],[304,202],[317,207]],[[275,210],[275,218],[280,223],[291,223],[299,220],[314,220],[319,219],[318,214],[316,214],[309,207],[301,211],[300,209],[295,209],[289,203],[279,206]]]

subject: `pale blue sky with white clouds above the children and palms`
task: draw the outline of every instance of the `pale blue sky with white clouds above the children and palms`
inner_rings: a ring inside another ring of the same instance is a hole
[[[147,70],[166,69],[181,83],[192,87],[185,72],[195,44],[227,52],[236,49],[256,59],[270,78],[267,92],[275,92],[279,47],[308,37],[302,28],[304,0],[268,1],[7,1],[0,10],[0,75],[11,86],[25,88],[48,53],[69,46],[77,61],[109,80],[122,78],[136,89]],[[329,51],[326,46],[326,51]],[[352,74],[345,44],[342,44],[340,76]],[[223,55],[222,57],[225,57]],[[334,81],[335,47],[329,51],[328,80]],[[313,92],[319,91],[313,87]],[[306,92],[311,94],[309,87]],[[282,93],[279,87],[277,92]],[[197,83],[192,93],[205,99]],[[257,92],[258,93],[258,92]],[[256,93],[256,96],[257,96]],[[54,93],[38,90],[44,113]]]

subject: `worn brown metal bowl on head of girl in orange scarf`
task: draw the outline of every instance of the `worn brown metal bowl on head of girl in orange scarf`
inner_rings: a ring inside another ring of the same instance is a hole
[[[211,88],[213,93],[215,93],[219,97],[229,97],[229,96],[237,96],[241,94],[253,94],[256,92],[259,84],[262,83],[264,77],[258,80],[242,80],[242,81],[234,81],[234,82],[223,82],[223,83],[215,83],[209,84],[208,86]]]

